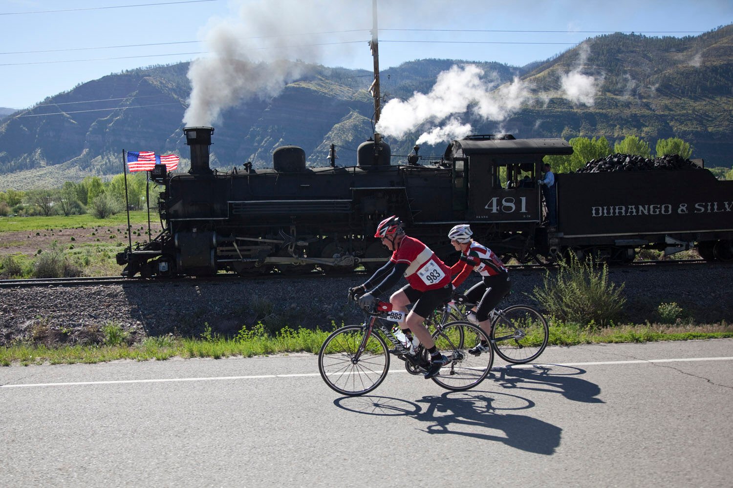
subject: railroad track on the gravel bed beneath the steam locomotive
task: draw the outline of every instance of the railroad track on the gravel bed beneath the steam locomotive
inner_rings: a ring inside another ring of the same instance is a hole
[[[624,266],[614,266],[614,269],[636,268],[641,266],[685,266],[689,264],[707,263],[703,259],[679,259],[679,260],[653,260],[653,261],[634,261]],[[511,270],[542,270],[552,268],[555,265],[540,264],[513,264],[507,265]],[[144,283],[165,283],[165,282],[231,282],[232,280],[248,280],[248,279],[329,279],[343,278],[364,275],[366,271],[356,271],[356,273],[339,273],[339,274],[323,274],[318,271],[312,271],[306,274],[262,274],[252,275],[251,277],[241,277],[237,274],[218,274],[214,277],[176,277],[168,279],[142,279],[142,278],[123,278],[123,277],[78,277],[78,278],[39,278],[39,279],[0,279],[0,288],[32,288],[32,287],[65,287],[65,286],[94,286],[94,285],[136,285]]]

